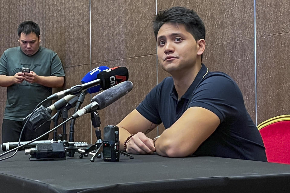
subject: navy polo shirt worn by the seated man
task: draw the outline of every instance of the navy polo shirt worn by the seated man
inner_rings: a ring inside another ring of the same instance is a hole
[[[136,109],[154,124],[163,123],[165,128],[169,128],[193,106],[214,112],[221,121],[194,154],[267,161],[261,135],[247,112],[236,82],[225,73],[208,72],[204,64],[179,100],[172,77],[167,77]]]

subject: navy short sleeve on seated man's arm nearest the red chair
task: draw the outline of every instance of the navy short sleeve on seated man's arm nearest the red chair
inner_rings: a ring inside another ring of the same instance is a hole
[[[223,122],[226,118],[237,117],[244,102],[234,80],[224,73],[212,73],[195,89],[188,108],[193,106],[210,110]]]

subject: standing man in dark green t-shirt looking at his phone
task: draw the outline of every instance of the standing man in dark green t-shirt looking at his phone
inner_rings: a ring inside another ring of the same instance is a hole
[[[18,141],[24,121],[38,103],[52,94],[53,87],[64,83],[63,66],[58,55],[39,46],[40,28],[33,21],[18,26],[19,46],[5,50],[0,59],[0,86],[7,87],[2,123],[2,143]],[[22,72],[21,68],[30,72]],[[51,101],[43,103],[47,107]],[[50,122],[35,131],[25,129],[21,141],[32,140],[47,132]],[[42,139],[48,139],[48,135]]]

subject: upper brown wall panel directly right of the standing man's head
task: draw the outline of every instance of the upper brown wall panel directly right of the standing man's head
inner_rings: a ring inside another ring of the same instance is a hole
[[[60,56],[63,67],[89,64],[89,0],[45,1],[45,8],[45,47]]]

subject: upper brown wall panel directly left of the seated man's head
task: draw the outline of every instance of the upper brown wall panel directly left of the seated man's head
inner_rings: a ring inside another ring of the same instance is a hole
[[[92,63],[156,53],[155,0],[91,1],[91,13]]]

